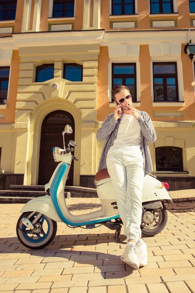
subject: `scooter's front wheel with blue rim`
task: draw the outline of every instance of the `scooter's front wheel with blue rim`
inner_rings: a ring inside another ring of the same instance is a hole
[[[18,239],[22,245],[30,249],[41,249],[49,245],[57,232],[56,221],[50,219],[46,215],[42,214],[39,220],[34,225],[34,229],[29,229],[22,223],[23,217],[28,217],[31,212],[24,212],[21,214],[17,226],[16,232]],[[36,212],[29,220],[32,222],[38,212]]]

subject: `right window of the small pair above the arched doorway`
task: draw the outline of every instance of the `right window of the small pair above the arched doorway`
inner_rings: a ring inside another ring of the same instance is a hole
[[[82,65],[64,64],[63,78],[71,82],[82,82]]]

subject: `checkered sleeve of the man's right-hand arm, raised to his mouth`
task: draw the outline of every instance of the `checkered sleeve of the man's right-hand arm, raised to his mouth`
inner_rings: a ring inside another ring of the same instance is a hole
[[[155,127],[148,113],[143,112],[143,116],[139,115],[137,118],[137,122],[140,125],[147,141],[149,143],[154,143],[156,141],[157,135],[156,135]]]

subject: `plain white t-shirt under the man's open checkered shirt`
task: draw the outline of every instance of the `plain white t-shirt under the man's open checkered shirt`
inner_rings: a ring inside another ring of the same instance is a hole
[[[109,153],[115,150],[130,152],[131,150],[138,150],[141,152],[140,132],[141,128],[137,120],[132,115],[122,113],[117,137],[113,146],[109,149]]]

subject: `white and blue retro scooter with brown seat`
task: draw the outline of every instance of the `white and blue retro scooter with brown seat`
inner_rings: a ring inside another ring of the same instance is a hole
[[[49,183],[45,185],[47,195],[30,200],[21,209],[16,231],[20,243],[30,249],[42,249],[49,245],[57,232],[57,222],[63,222],[68,227],[83,227],[93,229],[105,225],[116,230],[115,238],[120,242],[122,220],[117,211],[117,202],[111,179],[107,170],[100,170],[95,176],[97,193],[101,209],[73,215],[66,206],[64,187],[73,160],[78,158],[72,155],[76,142],[70,141],[65,147],[64,135],[72,133],[71,126],[66,125],[63,135],[64,148],[54,147],[53,157],[59,165],[56,167]],[[144,177],[142,192],[142,223],[143,235],[154,236],[164,229],[168,215],[165,202],[172,201],[167,183],[159,182],[155,176]],[[85,227],[84,227],[85,226]]]

